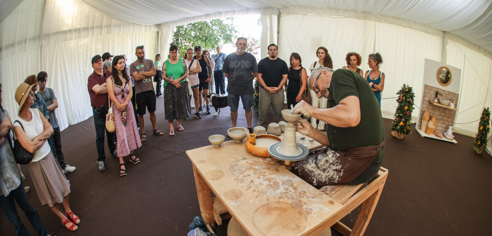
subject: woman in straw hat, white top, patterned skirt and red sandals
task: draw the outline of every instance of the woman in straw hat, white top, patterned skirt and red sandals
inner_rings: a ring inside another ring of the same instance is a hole
[[[80,219],[70,209],[70,184],[46,142],[53,134],[53,128],[39,110],[30,108],[34,103],[33,86],[22,83],[17,87],[15,98],[19,104],[19,115],[14,122],[14,133],[22,147],[34,154],[29,163],[29,172],[41,205],[48,205],[63,225],[74,231]],[[63,204],[65,213],[54,207],[55,204]]]

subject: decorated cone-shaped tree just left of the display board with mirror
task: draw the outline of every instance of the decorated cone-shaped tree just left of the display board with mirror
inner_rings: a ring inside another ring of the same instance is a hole
[[[401,87],[396,95],[398,95],[396,99],[398,106],[396,107],[395,119],[391,122],[391,131],[397,131],[400,134],[410,134],[415,97],[413,88],[403,84],[403,87]]]

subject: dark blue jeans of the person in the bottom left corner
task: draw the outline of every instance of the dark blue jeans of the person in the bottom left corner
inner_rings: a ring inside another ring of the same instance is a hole
[[[21,221],[19,214],[17,213],[16,204],[14,203],[16,199],[17,204],[21,207],[22,211],[26,214],[27,218],[33,225],[34,229],[38,232],[40,236],[48,235],[41,218],[39,217],[38,211],[33,208],[29,202],[26,192],[24,191],[24,185],[19,184],[19,187],[12,190],[7,196],[0,196],[0,206],[4,210],[7,218],[12,222],[14,228],[16,229],[17,235],[30,235],[26,227]]]

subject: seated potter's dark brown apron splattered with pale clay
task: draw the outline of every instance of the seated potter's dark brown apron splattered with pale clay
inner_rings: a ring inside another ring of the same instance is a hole
[[[355,147],[345,151],[318,148],[292,165],[291,171],[315,187],[349,183],[359,176],[384,146]]]

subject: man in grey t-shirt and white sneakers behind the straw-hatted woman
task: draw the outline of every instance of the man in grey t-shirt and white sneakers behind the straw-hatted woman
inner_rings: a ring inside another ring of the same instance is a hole
[[[46,83],[48,81],[48,73],[42,71],[37,76],[38,81],[38,94],[43,98],[48,106],[48,116],[50,119],[48,120],[53,127],[53,143],[52,145],[55,147],[56,159],[58,160],[58,164],[62,167],[63,173],[72,172],[75,170],[75,166],[70,166],[65,163],[65,158],[62,152],[62,139],[60,136],[60,126],[58,125],[58,120],[56,119],[55,109],[58,108],[58,102],[55,96],[55,92],[53,89],[47,88]]]

